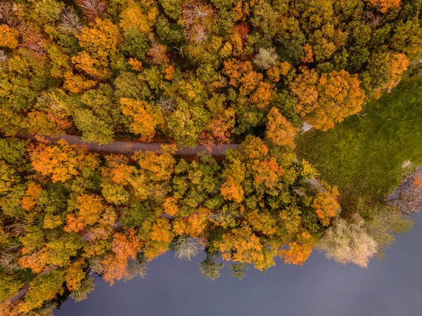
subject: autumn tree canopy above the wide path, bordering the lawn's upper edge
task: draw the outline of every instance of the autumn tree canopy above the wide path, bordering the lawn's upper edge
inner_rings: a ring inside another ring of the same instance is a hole
[[[419,6],[2,1],[1,129],[181,146],[330,129],[418,67]]]

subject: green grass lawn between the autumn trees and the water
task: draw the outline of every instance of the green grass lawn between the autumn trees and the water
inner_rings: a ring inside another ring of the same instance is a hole
[[[422,79],[403,82],[334,129],[303,134],[298,154],[338,185],[343,209],[359,197],[383,199],[422,162]]]

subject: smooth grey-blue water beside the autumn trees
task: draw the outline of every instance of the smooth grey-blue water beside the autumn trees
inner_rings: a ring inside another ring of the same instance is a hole
[[[96,278],[88,299],[71,299],[56,310],[68,315],[171,316],[357,316],[422,315],[422,218],[409,234],[397,237],[383,261],[368,269],[328,261],[314,251],[303,266],[280,259],[265,275],[249,268],[238,280],[224,267],[221,277],[205,280],[198,270],[203,256],[185,262],[172,252],[148,266],[145,279],[116,282]]]

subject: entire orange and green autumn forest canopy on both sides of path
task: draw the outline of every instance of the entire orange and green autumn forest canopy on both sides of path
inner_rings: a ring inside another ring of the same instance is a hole
[[[420,15],[416,0],[1,1],[6,314],[80,301],[92,273],[143,276],[169,250],[205,251],[210,279],[219,258],[242,277],[276,257],[302,265],[315,247],[366,267],[411,220],[378,204],[342,212],[295,139],[418,72]],[[65,134],[172,145],[129,157],[42,137]],[[175,155],[224,143],[241,145],[223,161]]]

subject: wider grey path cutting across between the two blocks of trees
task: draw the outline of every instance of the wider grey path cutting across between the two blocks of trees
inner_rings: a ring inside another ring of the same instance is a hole
[[[23,136],[18,134],[18,138],[23,139],[32,139],[34,140],[36,136]],[[160,143],[134,143],[134,142],[121,142],[115,141],[114,143],[98,145],[97,143],[88,143],[82,141],[80,136],[73,135],[63,135],[58,137],[46,137],[44,138],[50,140],[53,143],[57,143],[58,140],[64,139],[71,145],[83,146],[85,145],[88,150],[91,152],[120,152],[122,154],[134,154],[134,152],[161,152]],[[200,152],[205,152],[207,154],[212,154],[212,156],[224,156],[226,150],[232,149],[235,150],[239,147],[239,144],[225,144],[225,145],[212,145],[210,148],[205,147],[204,145],[197,145],[194,148],[183,147],[179,148],[176,152],[178,156],[195,156]]]

